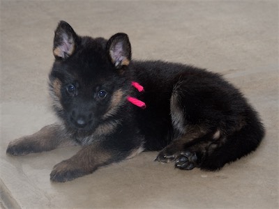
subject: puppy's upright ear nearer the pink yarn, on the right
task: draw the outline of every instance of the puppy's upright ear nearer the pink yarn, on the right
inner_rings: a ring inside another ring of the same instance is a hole
[[[116,33],[107,41],[107,53],[116,68],[129,65],[131,59],[130,41],[126,33]]]

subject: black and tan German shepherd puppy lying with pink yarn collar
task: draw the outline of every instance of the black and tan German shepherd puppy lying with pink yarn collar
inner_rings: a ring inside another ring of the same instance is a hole
[[[223,77],[189,65],[133,61],[125,33],[82,37],[61,21],[53,54],[50,95],[61,123],[7,149],[26,155],[82,146],[54,166],[52,181],[73,180],[143,150],[160,150],[156,160],[179,169],[215,171],[264,137],[256,111]]]

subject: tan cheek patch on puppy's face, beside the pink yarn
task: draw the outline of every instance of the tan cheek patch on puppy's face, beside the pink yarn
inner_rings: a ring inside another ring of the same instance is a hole
[[[123,104],[123,91],[121,89],[115,91],[112,95],[112,100],[110,102],[110,107],[108,108],[107,112],[103,115],[103,119],[113,116],[116,111],[121,107]]]

